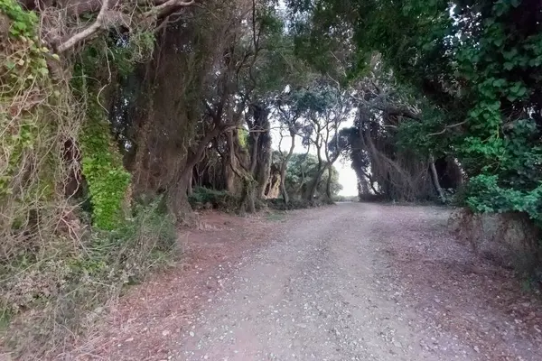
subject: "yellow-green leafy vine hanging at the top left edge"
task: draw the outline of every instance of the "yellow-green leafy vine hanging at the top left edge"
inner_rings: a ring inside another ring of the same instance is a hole
[[[2,197],[12,195],[14,179],[23,168],[26,154],[38,152],[40,134],[47,131],[52,133],[49,124],[40,124],[40,117],[46,111],[46,103],[58,92],[53,91],[49,99],[36,97],[41,88],[52,88],[46,61],[56,57],[41,46],[36,37],[36,14],[23,10],[14,0],[1,0],[0,14],[7,16],[2,21],[7,21],[10,37],[9,43],[0,48],[0,54],[5,57],[0,64],[0,125],[9,130],[0,138],[2,155],[7,161],[0,174]],[[25,94],[33,94],[33,104],[24,104]],[[51,193],[51,181],[46,183],[49,190],[44,191],[43,195]],[[43,187],[29,190],[26,192],[27,198],[43,190]]]

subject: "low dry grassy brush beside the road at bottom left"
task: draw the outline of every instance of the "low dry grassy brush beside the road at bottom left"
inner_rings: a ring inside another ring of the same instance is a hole
[[[176,229],[158,199],[135,205],[132,218],[116,230],[90,228],[74,252],[67,242],[76,241],[58,239],[45,255],[28,252],[2,266],[0,324],[14,356],[55,356],[58,347],[92,327],[127,284],[167,264]]]

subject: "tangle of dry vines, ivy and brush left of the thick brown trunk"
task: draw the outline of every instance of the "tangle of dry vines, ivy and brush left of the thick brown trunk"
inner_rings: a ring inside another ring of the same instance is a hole
[[[39,20],[0,0],[0,354],[14,359],[55,357],[176,245],[163,200],[130,199],[100,97],[154,34],[140,29],[115,63],[99,37],[101,51],[61,58]]]

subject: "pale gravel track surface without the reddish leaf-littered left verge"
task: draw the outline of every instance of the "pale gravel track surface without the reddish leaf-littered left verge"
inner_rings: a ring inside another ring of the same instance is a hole
[[[529,332],[472,289],[503,281],[446,235],[447,216],[350,203],[286,220],[209,300],[175,358],[542,360],[537,325]]]

